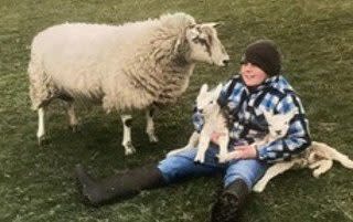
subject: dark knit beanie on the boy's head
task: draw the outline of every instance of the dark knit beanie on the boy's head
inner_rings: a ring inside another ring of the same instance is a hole
[[[245,63],[257,65],[268,76],[279,75],[281,54],[272,41],[259,40],[246,47],[240,61],[240,64]]]

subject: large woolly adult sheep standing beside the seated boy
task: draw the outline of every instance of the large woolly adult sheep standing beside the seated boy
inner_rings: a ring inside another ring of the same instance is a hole
[[[29,64],[32,108],[39,114],[38,139],[44,135],[45,108],[67,102],[69,126],[77,126],[74,102],[101,103],[119,110],[125,154],[133,154],[130,109],[147,109],[146,131],[157,141],[153,108],[175,102],[186,89],[196,62],[225,65],[229,56],[215,23],[196,24],[185,13],[122,25],[66,23],[40,32]]]

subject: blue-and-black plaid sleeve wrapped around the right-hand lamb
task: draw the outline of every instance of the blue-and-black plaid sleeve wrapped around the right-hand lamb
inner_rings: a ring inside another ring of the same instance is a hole
[[[309,121],[299,97],[295,94],[288,94],[276,106],[276,112],[287,114],[298,113],[289,121],[290,126],[287,135],[269,144],[258,147],[258,158],[267,162],[280,160],[290,160],[293,155],[300,154],[310,146]]]

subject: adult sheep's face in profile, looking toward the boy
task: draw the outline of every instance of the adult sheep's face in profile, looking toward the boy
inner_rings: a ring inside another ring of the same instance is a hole
[[[186,30],[186,40],[190,45],[190,60],[206,62],[224,66],[229,62],[229,56],[222,45],[216,23],[193,24]]]

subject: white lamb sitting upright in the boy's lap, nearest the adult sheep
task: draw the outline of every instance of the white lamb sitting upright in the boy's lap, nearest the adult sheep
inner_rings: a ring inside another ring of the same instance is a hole
[[[204,125],[201,133],[196,130],[191,135],[189,142],[185,147],[180,149],[174,149],[168,152],[169,156],[176,155],[181,151],[197,147],[197,154],[194,159],[195,162],[204,162],[205,152],[210,146],[211,134],[213,131],[220,133],[218,144],[220,144],[220,154],[218,161],[224,162],[227,154],[228,141],[229,141],[229,131],[227,128],[227,120],[221,109],[221,106],[217,104],[222,91],[222,84],[210,92],[207,92],[207,84],[202,85],[200,93],[196,98],[196,108],[204,118]]]

